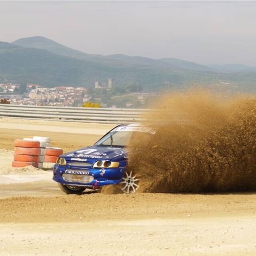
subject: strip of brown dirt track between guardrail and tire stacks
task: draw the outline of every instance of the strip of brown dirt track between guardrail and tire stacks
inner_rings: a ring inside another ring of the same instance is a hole
[[[96,126],[96,127],[95,127]],[[11,118],[0,119],[0,147],[13,150],[15,139],[29,136],[52,138],[52,146],[64,152],[93,144],[114,125],[70,122],[34,121]]]

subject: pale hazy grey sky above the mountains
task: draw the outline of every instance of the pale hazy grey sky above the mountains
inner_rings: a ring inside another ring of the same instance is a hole
[[[93,54],[256,66],[256,2],[0,1],[0,41],[29,36]]]

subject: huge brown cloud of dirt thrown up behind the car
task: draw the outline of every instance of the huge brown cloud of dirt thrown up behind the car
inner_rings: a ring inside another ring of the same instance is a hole
[[[148,113],[128,147],[138,192],[231,192],[256,189],[256,96],[170,94]]]

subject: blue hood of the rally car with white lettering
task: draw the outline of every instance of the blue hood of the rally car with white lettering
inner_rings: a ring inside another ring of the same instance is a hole
[[[91,146],[68,152],[61,157],[95,160],[113,160],[118,158],[118,160],[122,160],[126,158],[126,155],[127,151],[124,148]]]

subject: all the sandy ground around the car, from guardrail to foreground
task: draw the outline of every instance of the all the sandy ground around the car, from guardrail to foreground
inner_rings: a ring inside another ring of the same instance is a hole
[[[13,140],[68,151],[112,126],[36,122],[0,121],[0,255],[256,255],[255,193],[66,195],[49,166],[10,167]]]

